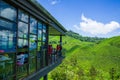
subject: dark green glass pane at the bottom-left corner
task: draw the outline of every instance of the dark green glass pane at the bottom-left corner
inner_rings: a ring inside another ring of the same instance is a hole
[[[14,76],[15,53],[0,55],[0,80],[12,80]]]

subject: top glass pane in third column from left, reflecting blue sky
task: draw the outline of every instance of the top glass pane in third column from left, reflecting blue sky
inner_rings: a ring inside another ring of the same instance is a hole
[[[30,33],[37,34],[37,21],[34,18],[30,18]]]

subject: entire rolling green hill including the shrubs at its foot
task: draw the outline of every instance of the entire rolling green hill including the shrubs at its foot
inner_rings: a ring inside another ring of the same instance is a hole
[[[120,36],[97,44],[65,36],[63,48],[66,58],[50,73],[51,80],[120,80]]]

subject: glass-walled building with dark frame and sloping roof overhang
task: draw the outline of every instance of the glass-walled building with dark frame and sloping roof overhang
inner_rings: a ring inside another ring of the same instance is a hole
[[[0,0],[0,80],[38,80],[62,62],[49,64],[49,36],[66,29],[35,0]]]

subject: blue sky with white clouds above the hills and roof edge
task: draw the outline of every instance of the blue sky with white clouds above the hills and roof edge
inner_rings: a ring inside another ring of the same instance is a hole
[[[37,0],[67,30],[82,36],[120,35],[120,0]]]

